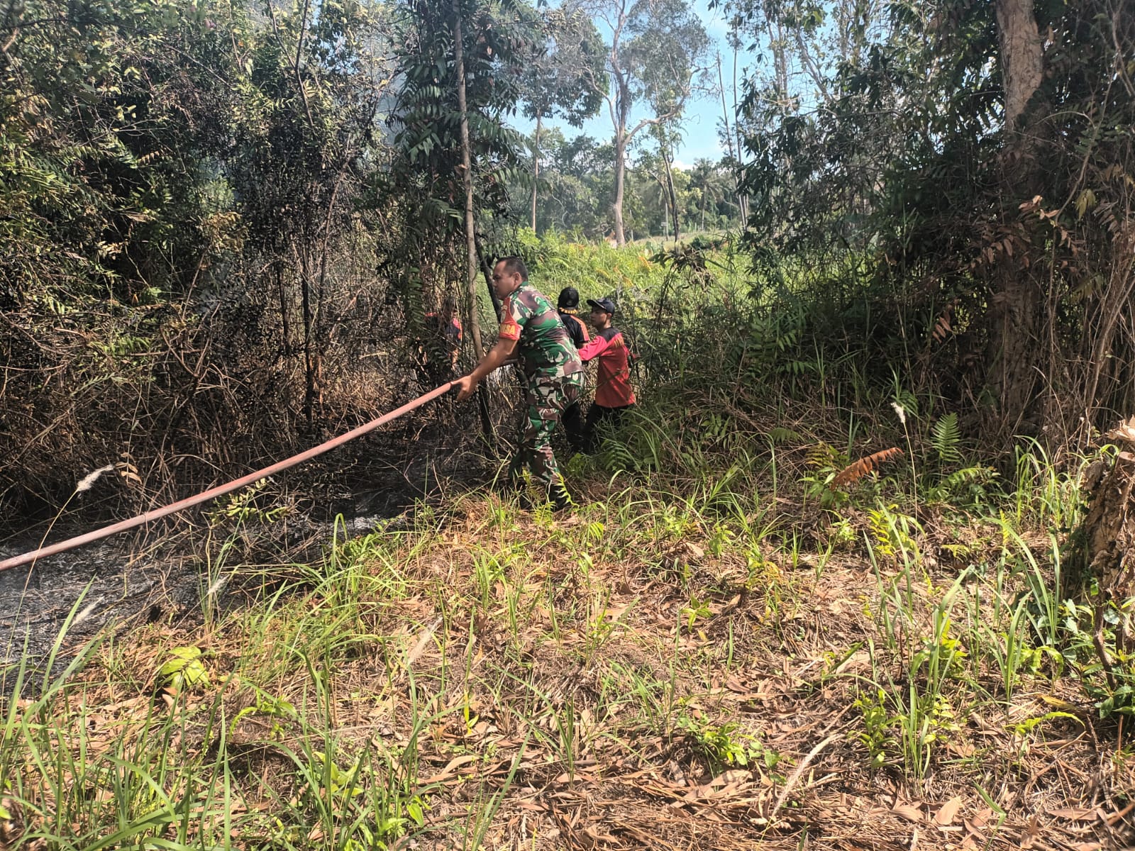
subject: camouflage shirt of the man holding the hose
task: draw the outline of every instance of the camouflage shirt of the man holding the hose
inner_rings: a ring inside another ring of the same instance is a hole
[[[502,307],[501,339],[520,342],[520,356],[529,379],[583,371],[575,345],[546,296],[522,284],[504,297]]]

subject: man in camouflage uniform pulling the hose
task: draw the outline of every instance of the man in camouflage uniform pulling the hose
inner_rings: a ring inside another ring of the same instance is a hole
[[[502,302],[497,344],[472,372],[459,378],[459,402],[472,395],[478,382],[503,365],[519,349],[524,365],[524,403],[528,420],[512,457],[508,478],[520,487],[524,470],[556,509],[571,505],[563,477],[552,453],[552,431],[569,405],[579,398],[583,364],[568,329],[548,298],[528,285],[528,269],[520,258],[505,258],[493,270],[493,288]]]

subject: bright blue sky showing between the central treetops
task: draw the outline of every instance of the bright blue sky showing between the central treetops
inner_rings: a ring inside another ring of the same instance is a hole
[[[722,73],[725,76],[725,100],[730,108],[730,126],[732,126],[732,68],[733,68],[733,51],[730,50],[729,45],[725,43],[726,26],[722,11],[720,9],[711,10],[706,0],[693,0],[692,6],[701,18],[701,23],[709,34],[713,44],[711,45],[711,56],[714,56],[717,50],[721,51],[722,57]],[[738,74],[737,78],[740,82],[743,77],[743,69],[747,65],[751,65],[755,61],[753,53],[741,53],[738,56]],[[714,71],[716,78],[716,70]],[[646,115],[646,110],[636,109],[631,118],[631,124],[633,125],[640,118]],[[686,109],[686,117],[682,121],[682,143],[678,145],[674,151],[675,163],[680,167],[688,167],[693,163],[695,160],[700,158],[706,158],[711,160],[717,160],[723,153],[721,142],[717,136],[717,127],[721,124],[721,96],[715,94],[700,96],[691,100]],[[521,116],[514,116],[513,124],[522,133],[531,133],[535,123],[528,121]],[[606,104],[603,106],[599,115],[589,121],[585,123],[581,129],[577,129],[569,125],[566,121],[552,120],[545,123],[546,126],[550,125],[553,127],[560,127],[564,135],[569,138],[578,135],[580,133],[586,133],[589,136],[594,136],[600,142],[608,141],[613,135],[611,126],[611,115],[607,110]],[[645,138],[646,132],[639,134],[636,137],[636,142],[640,142]]]

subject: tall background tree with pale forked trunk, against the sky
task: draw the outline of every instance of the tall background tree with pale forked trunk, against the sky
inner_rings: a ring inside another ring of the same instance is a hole
[[[602,19],[611,32],[607,79],[589,77],[607,102],[615,145],[615,197],[612,203],[615,241],[627,242],[623,201],[627,158],[634,137],[646,127],[679,118],[693,93],[699,64],[708,49],[705,27],[686,0],[575,0]],[[637,103],[650,115],[632,123]]]

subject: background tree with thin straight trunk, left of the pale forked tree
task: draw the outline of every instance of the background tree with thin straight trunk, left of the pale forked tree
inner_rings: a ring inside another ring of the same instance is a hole
[[[521,83],[523,113],[536,120],[532,134],[530,218],[536,230],[536,196],[540,177],[540,132],[547,118],[560,116],[579,127],[603,106],[604,45],[595,23],[581,9],[544,12],[546,43],[526,65]]]

